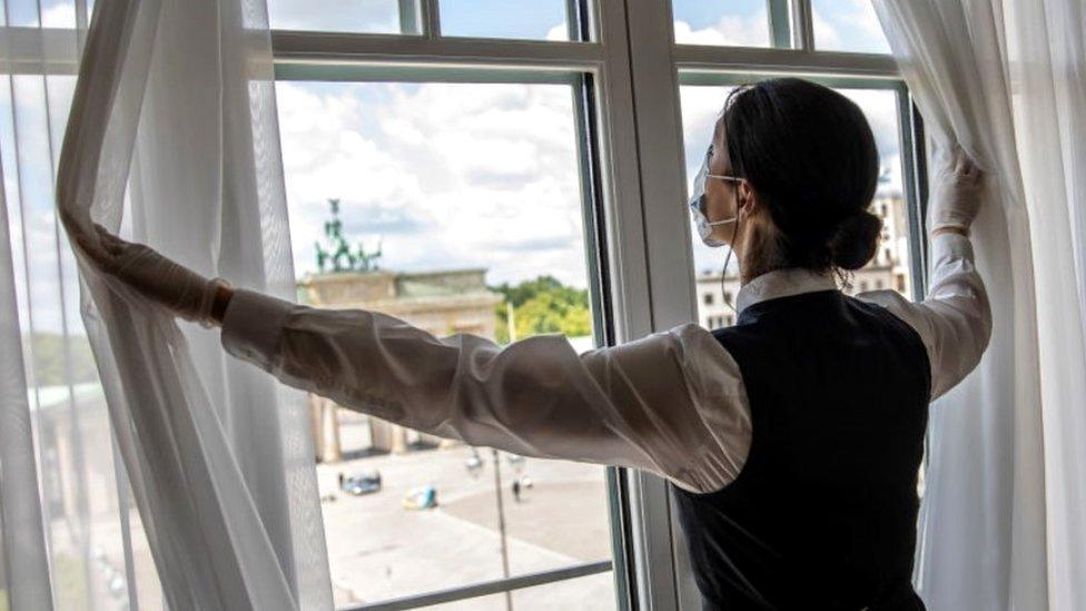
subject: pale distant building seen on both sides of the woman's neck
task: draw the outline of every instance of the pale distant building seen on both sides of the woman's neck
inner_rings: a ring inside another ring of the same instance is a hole
[[[905,199],[900,193],[880,190],[871,205],[871,211],[882,219],[879,248],[871,263],[852,273],[852,287],[847,293],[890,289],[911,298],[909,217]],[[739,287],[739,276],[734,272],[723,278],[718,270],[707,269],[699,273],[698,322],[707,328],[735,324],[732,307],[735,306]]]

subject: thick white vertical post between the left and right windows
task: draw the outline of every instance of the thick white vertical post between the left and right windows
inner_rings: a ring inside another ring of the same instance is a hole
[[[644,217],[651,329],[695,319],[690,278],[689,217],[682,155],[682,120],[673,50],[670,0],[626,0],[625,35],[636,135],[636,160]],[[613,41],[611,41],[613,42]],[[631,534],[636,566],[639,609],[682,608],[689,572],[677,568],[687,553],[674,536],[668,483],[643,472],[629,473]],[[678,546],[677,546],[678,545]]]

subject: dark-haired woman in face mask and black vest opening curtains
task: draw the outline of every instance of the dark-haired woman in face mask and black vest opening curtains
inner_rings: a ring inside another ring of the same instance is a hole
[[[81,246],[292,386],[472,445],[669,479],[707,608],[922,609],[910,578],[928,403],[990,331],[968,240],[981,180],[960,154],[936,180],[920,304],[838,289],[878,246],[877,181],[847,98],[798,79],[739,89],[691,201],[702,239],[739,258],[738,324],[581,355],[559,336],[438,339],[235,290],[101,229]]]

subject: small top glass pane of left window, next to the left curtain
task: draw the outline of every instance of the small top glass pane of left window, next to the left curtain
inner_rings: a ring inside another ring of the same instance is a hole
[[[401,0],[268,0],[268,17],[276,30],[317,30],[359,33],[414,33],[404,27]],[[414,2],[406,2],[414,10]],[[404,32],[404,30],[408,30]]]

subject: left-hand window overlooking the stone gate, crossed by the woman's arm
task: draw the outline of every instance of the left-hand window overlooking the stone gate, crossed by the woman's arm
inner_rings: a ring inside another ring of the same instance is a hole
[[[591,38],[589,3],[531,4],[426,0],[386,10],[381,30],[333,20],[363,33],[333,39],[342,57],[319,65],[304,58],[329,39],[276,35],[299,299],[440,336],[560,333],[579,351],[606,341],[596,68],[583,60],[599,51],[541,51]],[[378,57],[359,62],[359,47]],[[416,47],[450,59],[423,61]],[[337,608],[432,604],[435,592],[452,602],[525,575],[546,585],[457,604],[620,605],[616,470],[470,447],[319,397],[310,406],[324,423],[316,469]]]

